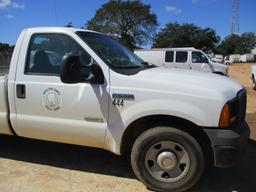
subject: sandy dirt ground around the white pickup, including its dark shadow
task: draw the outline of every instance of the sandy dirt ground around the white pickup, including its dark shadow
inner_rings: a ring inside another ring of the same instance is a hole
[[[252,141],[233,168],[211,169],[190,192],[255,191],[256,91],[250,65],[232,65],[230,77],[248,92],[247,121]],[[147,191],[129,162],[109,152],[45,141],[0,136],[0,192],[140,192]]]

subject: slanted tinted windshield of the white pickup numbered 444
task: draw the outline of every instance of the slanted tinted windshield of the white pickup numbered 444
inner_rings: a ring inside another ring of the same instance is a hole
[[[111,37],[92,32],[77,32],[95,52],[114,68],[152,67]]]

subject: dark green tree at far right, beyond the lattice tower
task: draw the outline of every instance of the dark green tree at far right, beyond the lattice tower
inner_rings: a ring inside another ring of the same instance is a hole
[[[239,35],[229,35],[220,44],[218,50],[223,55],[250,53],[256,46],[255,33],[243,33]]]

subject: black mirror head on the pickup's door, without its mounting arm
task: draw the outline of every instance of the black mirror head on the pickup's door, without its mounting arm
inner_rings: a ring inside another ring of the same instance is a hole
[[[60,79],[63,83],[74,84],[82,81],[79,55],[69,53],[63,56],[60,66]]]

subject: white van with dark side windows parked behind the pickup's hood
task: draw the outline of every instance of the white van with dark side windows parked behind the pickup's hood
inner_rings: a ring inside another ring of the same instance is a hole
[[[226,65],[213,62],[195,48],[139,49],[134,53],[148,63],[169,68],[192,69],[227,75]]]

